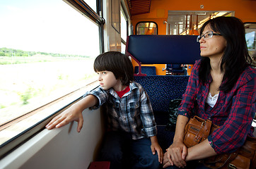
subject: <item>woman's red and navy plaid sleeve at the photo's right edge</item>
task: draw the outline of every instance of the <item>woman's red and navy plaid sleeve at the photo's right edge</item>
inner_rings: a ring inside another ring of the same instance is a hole
[[[252,120],[255,117],[255,74],[244,75],[235,84],[239,86],[233,96],[228,119],[218,130],[209,135],[208,140],[217,154],[231,153],[243,146]]]

